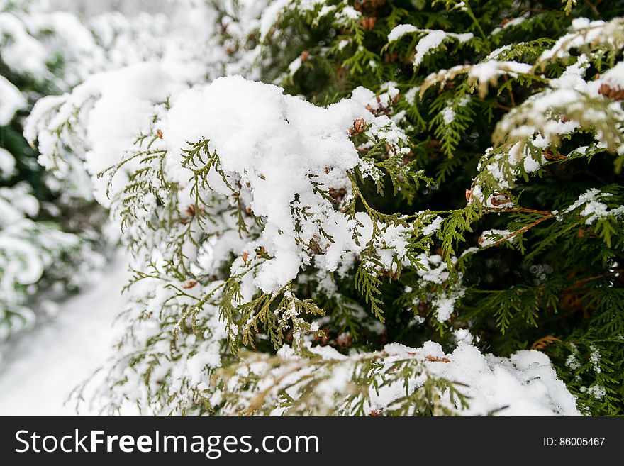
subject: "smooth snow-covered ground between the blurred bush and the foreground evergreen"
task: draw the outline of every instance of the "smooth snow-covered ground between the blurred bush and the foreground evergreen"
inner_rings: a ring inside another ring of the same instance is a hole
[[[120,294],[128,279],[125,269],[118,255],[90,289],[60,305],[54,321],[2,349],[0,416],[76,414],[65,400],[109,352],[113,320],[125,299]]]

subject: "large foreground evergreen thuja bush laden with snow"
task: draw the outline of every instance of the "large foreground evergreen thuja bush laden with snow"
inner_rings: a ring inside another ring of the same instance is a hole
[[[133,255],[96,404],[620,413],[622,5],[537,3],[220,2],[40,101]]]

